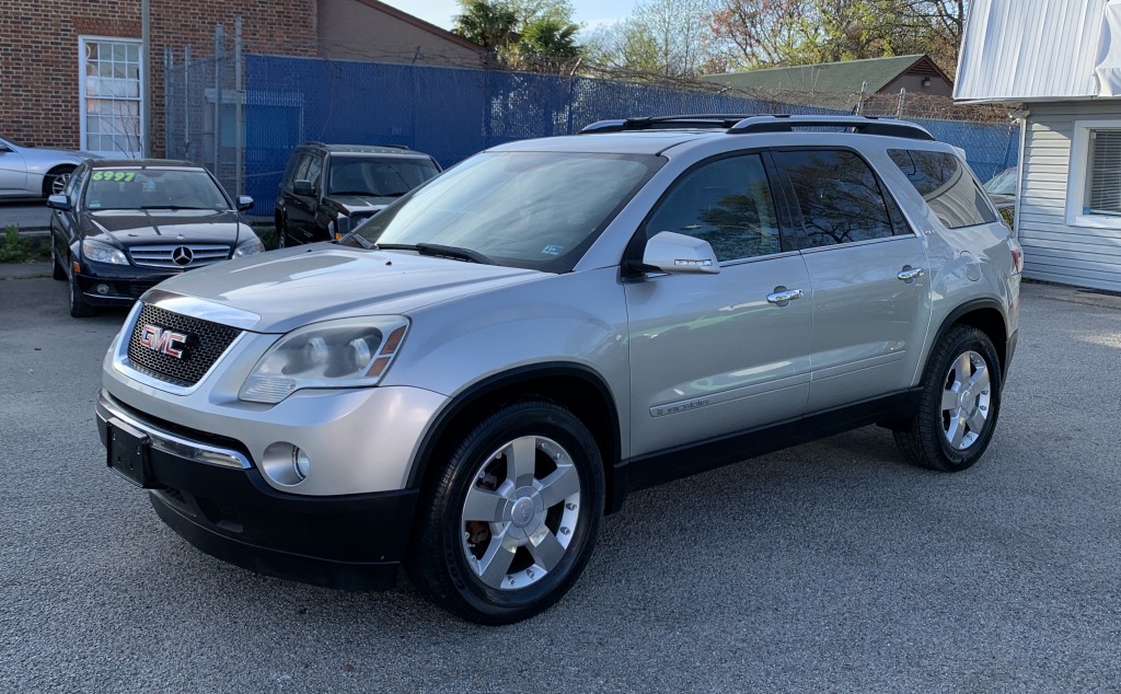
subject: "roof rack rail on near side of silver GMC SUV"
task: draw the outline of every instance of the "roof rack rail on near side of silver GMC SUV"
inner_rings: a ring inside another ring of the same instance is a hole
[[[580,135],[624,132],[669,128],[713,128],[728,135],[753,132],[793,132],[795,128],[847,128],[861,135],[886,135],[912,140],[934,140],[930,132],[909,121],[876,115],[751,115],[733,113],[700,113],[695,115],[655,115],[601,120],[581,129]]]

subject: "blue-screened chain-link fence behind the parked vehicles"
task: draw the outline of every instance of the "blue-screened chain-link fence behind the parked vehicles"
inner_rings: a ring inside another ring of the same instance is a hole
[[[240,21],[232,37],[220,26],[212,55],[195,57],[188,48],[179,62],[166,56],[167,154],[203,164],[232,194],[251,195],[251,213],[261,216],[272,214],[293,149],[309,140],[405,145],[446,167],[494,145],[571,135],[603,119],[854,110],[683,81],[242,55],[240,35]],[[976,112],[966,117],[975,122],[935,120],[928,117],[937,110],[914,110],[923,104],[917,98],[911,110],[904,112],[907,102],[897,100],[899,112],[884,113],[881,96],[864,99],[861,111],[918,120],[964,149],[982,179],[1016,165],[1017,132],[1007,119]]]

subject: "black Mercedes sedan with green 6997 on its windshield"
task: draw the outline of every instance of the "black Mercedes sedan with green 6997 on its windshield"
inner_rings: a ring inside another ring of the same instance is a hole
[[[174,275],[263,251],[241,216],[252,205],[187,161],[85,161],[47,198],[54,276],[70,281],[71,315],[128,305]]]

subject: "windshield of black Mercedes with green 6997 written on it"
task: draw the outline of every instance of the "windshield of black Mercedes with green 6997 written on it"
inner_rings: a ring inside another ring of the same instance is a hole
[[[230,203],[204,170],[94,169],[85,187],[87,210],[229,210]]]

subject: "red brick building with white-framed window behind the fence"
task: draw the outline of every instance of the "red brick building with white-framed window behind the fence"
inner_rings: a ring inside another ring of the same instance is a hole
[[[164,149],[164,54],[244,53],[478,67],[482,48],[377,0],[150,0],[151,137]],[[139,154],[141,0],[0,0],[0,135],[22,145]]]

